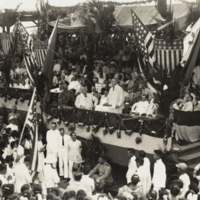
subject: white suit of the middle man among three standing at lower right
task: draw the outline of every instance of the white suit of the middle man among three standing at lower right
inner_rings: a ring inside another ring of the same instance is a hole
[[[146,197],[151,187],[150,171],[147,170],[145,166],[140,166],[137,169],[137,175],[140,177],[140,183],[143,186],[143,196]]]

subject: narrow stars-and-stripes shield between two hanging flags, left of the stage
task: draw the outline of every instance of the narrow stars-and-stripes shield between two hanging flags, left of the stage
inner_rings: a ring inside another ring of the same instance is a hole
[[[42,42],[38,39],[33,41],[33,48],[35,52],[35,59],[40,69],[43,69],[44,60],[47,55],[48,40]]]

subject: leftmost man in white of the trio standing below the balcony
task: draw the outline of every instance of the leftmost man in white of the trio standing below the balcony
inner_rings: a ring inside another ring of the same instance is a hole
[[[58,137],[60,132],[57,128],[55,122],[51,123],[51,130],[47,131],[46,141],[47,141],[47,155],[53,154],[55,158],[58,157]],[[56,167],[56,163],[54,163],[54,167]]]

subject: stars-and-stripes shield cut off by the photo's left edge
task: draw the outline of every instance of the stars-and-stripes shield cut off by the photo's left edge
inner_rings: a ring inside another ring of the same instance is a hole
[[[12,33],[1,33],[1,45],[4,53],[7,55],[15,46],[16,42],[16,31],[18,27],[18,22],[15,23]]]

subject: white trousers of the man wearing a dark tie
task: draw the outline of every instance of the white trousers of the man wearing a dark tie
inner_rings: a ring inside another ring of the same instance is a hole
[[[59,150],[58,159],[60,176],[64,176],[64,178],[69,178],[68,155],[65,148],[61,148]]]

